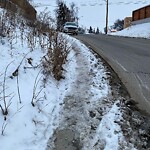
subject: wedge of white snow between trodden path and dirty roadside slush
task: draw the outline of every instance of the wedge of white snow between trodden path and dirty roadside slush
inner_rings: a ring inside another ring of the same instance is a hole
[[[118,150],[119,138],[123,135],[120,126],[114,123],[114,120],[116,121],[121,118],[121,112],[116,103],[111,110],[103,116],[103,119],[97,128],[96,137],[92,140],[91,145],[95,145],[98,140],[106,139],[105,150],[110,150],[112,147],[113,150]],[[119,135],[114,134],[115,132],[119,132]]]

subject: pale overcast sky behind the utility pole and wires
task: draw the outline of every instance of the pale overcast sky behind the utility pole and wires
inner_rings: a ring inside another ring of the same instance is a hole
[[[39,0],[34,0],[39,2]],[[67,6],[72,2],[79,8],[79,25],[89,28],[99,27],[103,31],[106,24],[106,2],[105,0],[64,0]],[[45,0],[43,3],[51,7],[52,14],[56,8],[56,0]],[[108,26],[113,25],[117,19],[124,19],[132,16],[132,11],[149,5],[149,0],[109,0],[109,19]]]

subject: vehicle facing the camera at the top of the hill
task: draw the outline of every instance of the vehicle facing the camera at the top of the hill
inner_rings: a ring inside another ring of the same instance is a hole
[[[63,32],[67,34],[78,34],[78,24],[76,22],[66,22],[63,27]]]

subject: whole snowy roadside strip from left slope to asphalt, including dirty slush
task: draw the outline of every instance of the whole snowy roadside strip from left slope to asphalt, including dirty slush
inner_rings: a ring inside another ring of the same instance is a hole
[[[150,117],[138,110],[116,73],[97,54],[78,41],[73,47],[75,80],[46,150],[148,149]]]

